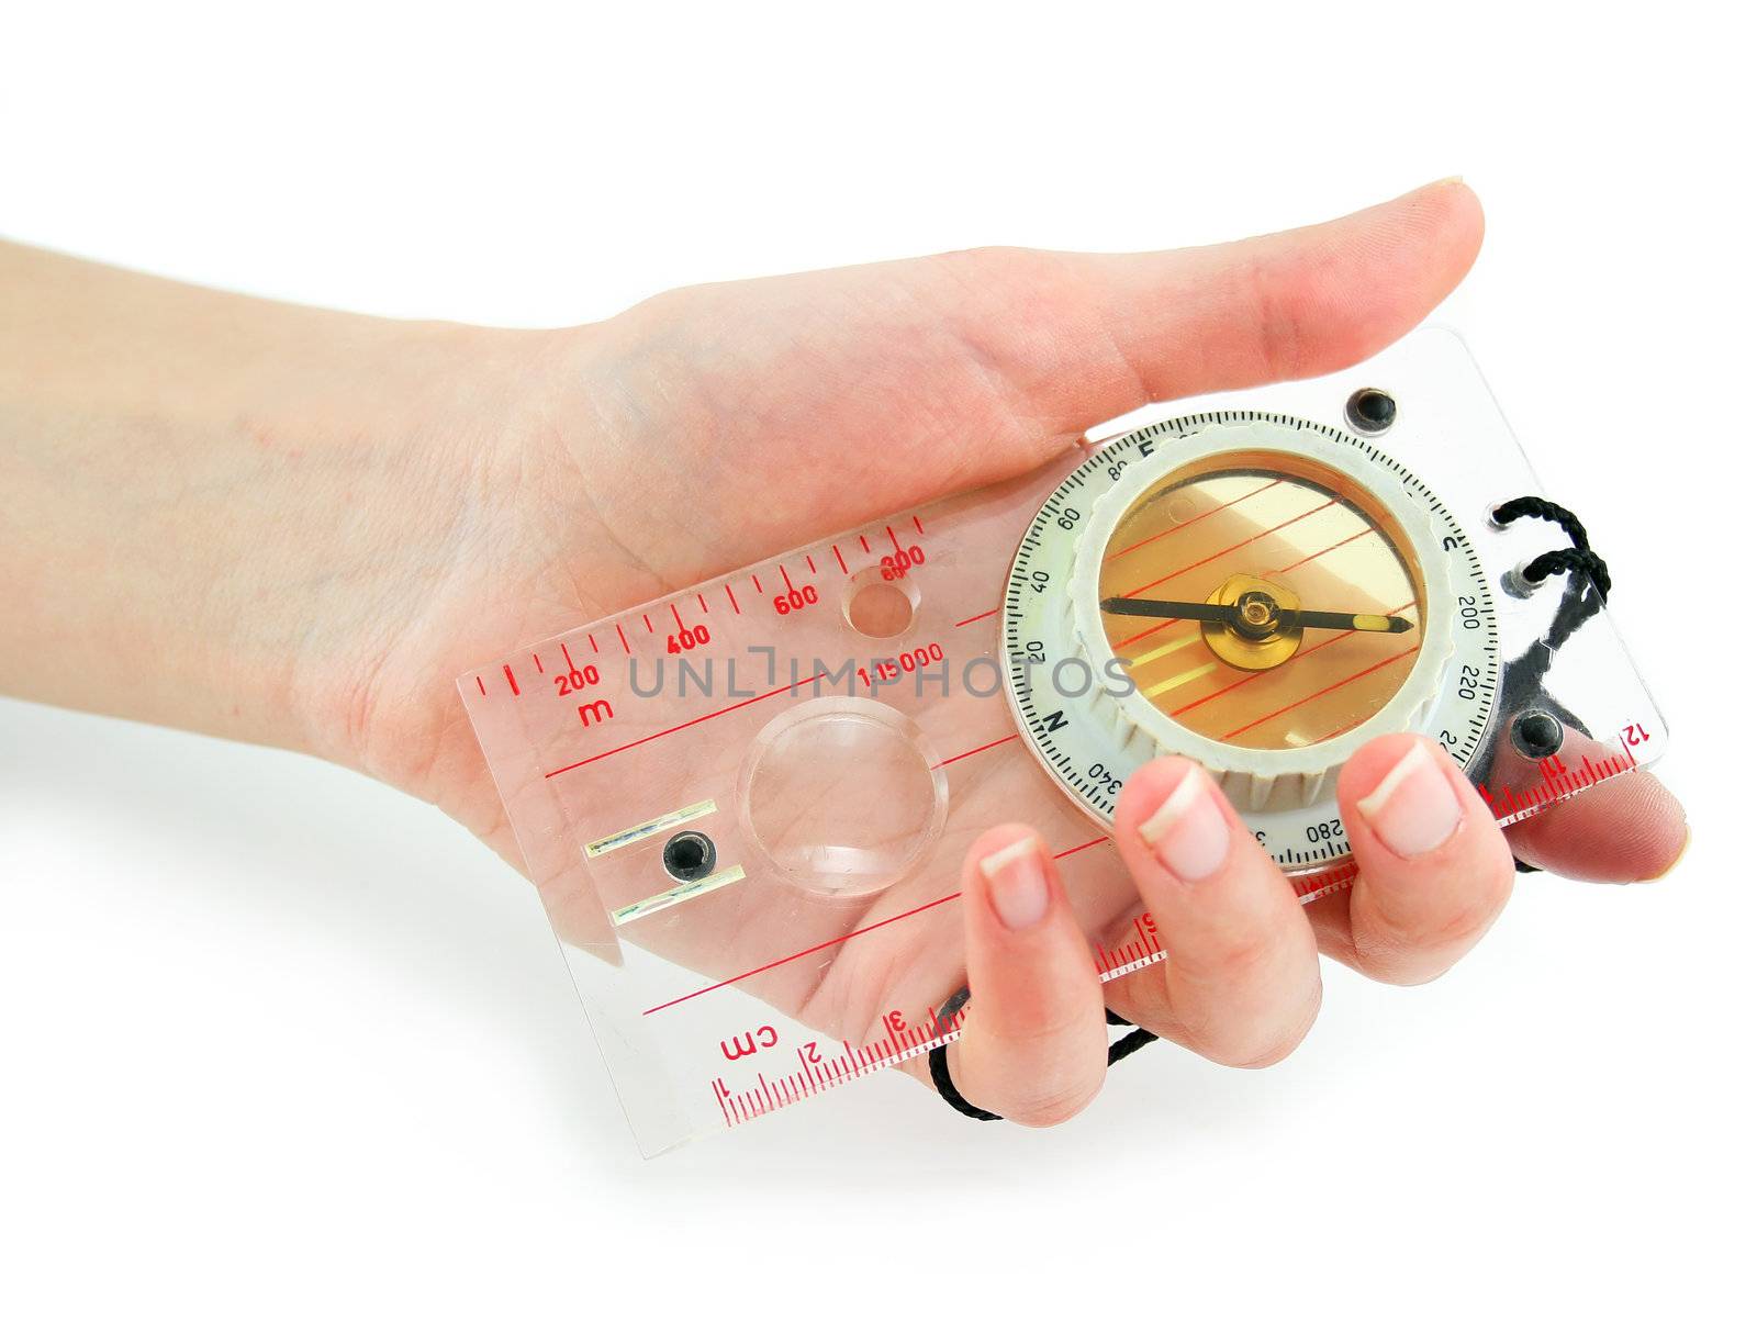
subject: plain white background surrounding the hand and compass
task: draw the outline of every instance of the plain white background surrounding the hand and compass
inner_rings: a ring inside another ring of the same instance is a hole
[[[1748,1330],[1752,109],[1718,7],[589,9],[7,0],[0,234],[568,323],[1462,172],[1488,244],[1441,316],[1611,559],[1696,845],[1657,887],[1522,880],[1432,987],[1332,970],[1263,1073],[1154,1047],[1051,1133],[886,1077],[641,1163],[536,898],[460,829],[0,703],[0,1335]],[[1704,585],[1734,632],[1692,624]]]

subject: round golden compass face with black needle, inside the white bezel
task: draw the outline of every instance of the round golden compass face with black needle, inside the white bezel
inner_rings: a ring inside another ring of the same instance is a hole
[[[1179,467],[1117,522],[1105,638],[1163,713],[1284,750],[1367,722],[1409,678],[1428,613],[1414,548],[1358,481],[1272,450]]]

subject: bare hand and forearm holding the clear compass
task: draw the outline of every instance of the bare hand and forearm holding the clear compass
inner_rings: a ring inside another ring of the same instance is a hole
[[[1355,364],[1479,237],[1474,195],[1441,183],[1226,246],[954,253],[680,290],[562,332],[313,313],[0,248],[0,416],[23,448],[0,492],[0,567],[21,576],[0,689],[318,752],[518,863],[459,669],[1028,471],[1144,402]],[[717,508],[678,527],[675,501],[699,497]],[[1305,910],[1198,768],[1137,771],[1117,850],[1175,936],[1103,993],[1042,845],[979,840],[959,1087],[1026,1123],[1074,1114],[1102,1079],[1105,994],[1262,1065],[1309,1026],[1320,950],[1441,973],[1508,896],[1502,833],[1407,738],[1365,747],[1341,791],[1362,880]],[[1634,777],[1513,843],[1632,880],[1671,864],[1683,822]],[[773,996],[835,1028],[878,1001],[826,984]]]

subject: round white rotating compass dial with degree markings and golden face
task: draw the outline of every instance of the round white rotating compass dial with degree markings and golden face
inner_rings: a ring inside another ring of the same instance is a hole
[[[1154,599],[1233,604],[1235,629],[1130,608]],[[1251,411],[1095,444],[1024,531],[1000,639],[1021,738],[1100,824],[1175,750],[1290,871],[1348,856],[1335,775],[1363,741],[1418,731],[1469,770],[1500,671],[1493,594],[1444,502],[1363,439]]]

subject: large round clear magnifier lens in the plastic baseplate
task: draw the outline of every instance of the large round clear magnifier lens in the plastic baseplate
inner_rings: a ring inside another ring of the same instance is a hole
[[[740,796],[763,854],[819,896],[884,891],[945,824],[945,775],[921,729],[845,696],[773,719],[750,743]]]

